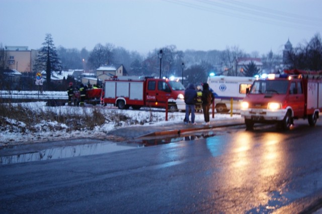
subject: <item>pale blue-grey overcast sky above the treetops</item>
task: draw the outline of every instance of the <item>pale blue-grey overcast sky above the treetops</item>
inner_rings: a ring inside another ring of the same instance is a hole
[[[322,30],[320,0],[1,0],[0,44],[38,49],[111,43],[146,54],[177,50],[280,53]]]

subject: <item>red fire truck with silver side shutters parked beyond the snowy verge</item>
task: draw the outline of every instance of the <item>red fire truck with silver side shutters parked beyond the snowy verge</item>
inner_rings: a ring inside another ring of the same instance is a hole
[[[179,80],[115,76],[105,80],[104,103],[136,110],[142,106],[166,108],[168,103],[169,111],[184,111],[184,90]]]

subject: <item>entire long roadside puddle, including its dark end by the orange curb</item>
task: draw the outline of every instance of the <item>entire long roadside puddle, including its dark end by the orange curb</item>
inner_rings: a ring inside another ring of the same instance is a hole
[[[127,149],[134,149],[138,147],[162,145],[162,144],[176,143],[180,141],[192,141],[192,140],[204,139],[204,138],[213,137],[213,136],[215,136],[215,134],[212,131],[197,132],[197,133],[190,132],[190,133],[185,133],[185,134],[175,135],[175,136],[159,136],[159,137],[154,136],[149,138],[141,138],[136,141],[127,142],[127,143],[126,142],[123,142],[123,143],[105,142],[105,143],[54,147],[50,149],[43,149],[37,152],[0,157],[1,158],[0,165],[111,153],[111,152],[122,151]]]

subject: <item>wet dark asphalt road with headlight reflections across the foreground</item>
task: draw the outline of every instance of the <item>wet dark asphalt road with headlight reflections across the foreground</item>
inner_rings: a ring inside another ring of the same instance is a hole
[[[0,165],[0,210],[296,213],[322,196],[321,133],[321,121],[296,121],[285,133],[239,126],[192,141]]]

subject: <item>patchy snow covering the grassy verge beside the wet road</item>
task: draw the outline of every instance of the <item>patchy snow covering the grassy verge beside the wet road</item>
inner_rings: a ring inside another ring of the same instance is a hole
[[[125,118],[130,118],[130,120],[122,121],[117,120],[117,118],[116,120],[111,120],[113,117],[110,117],[109,120],[106,120],[104,124],[95,126],[94,129],[71,130],[66,124],[58,123],[57,121],[45,120],[39,120],[40,122],[30,129],[27,128],[26,124],[23,122],[5,118],[5,120],[7,120],[7,124],[10,124],[10,126],[6,125],[6,127],[0,127],[0,147],[64,139],[106,139],[107,133],[114,129],[130,126],[165,126],[167,124],[183,123],[185,118],[185,113],[175,112],[169,113],[168,121],[166,121],[165,110],[154,109],[153,111],[149,111],[148,108],[141,108],[139,111],[134,111],[118,110],[112,105],[87,105],[85,108],[66,105],[51,107],[46,106],[46,102],[41,101],[20,104],[26,106],[28,109],[32,109],[33,111],[41,111],[43,113],[52,113],[56,111],[57,115],[91,115],[94,110],[97,110],[103,115],[124,115]],[[230,115],[215,114],[215,118],[211,119],[211,121],[228,119],[240,119],[240,115],[234,114],[232,117],[230,117]],[[203,114],[196,114],[195,121],[197,123],[203,123]]]

